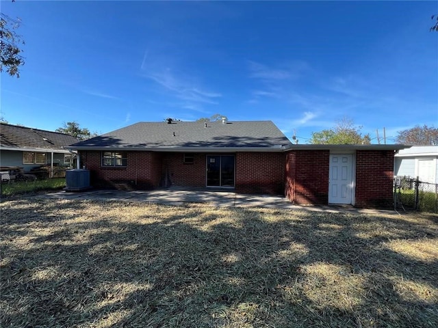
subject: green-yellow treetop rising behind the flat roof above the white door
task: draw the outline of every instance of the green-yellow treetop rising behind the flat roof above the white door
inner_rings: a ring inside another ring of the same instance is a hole
[[[356,127],[349,118],[337,122],[334,128],[313,132],[310,143],[314,144],[337,144],[337,145],[369,145],[369,134],[362,135],[361,126]]]

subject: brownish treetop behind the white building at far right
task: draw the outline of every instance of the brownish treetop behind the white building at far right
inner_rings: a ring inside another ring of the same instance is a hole
[[[424,126],[416,125],[407,130],[398,131],[396,143],[412,146],[437,146],[438,128],[424,124]]]

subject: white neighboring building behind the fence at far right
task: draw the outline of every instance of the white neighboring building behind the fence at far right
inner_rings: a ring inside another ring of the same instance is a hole
[[[394,175],[418,177],[422,182],[438,184],[438,146],[412,146],[399,150]]]

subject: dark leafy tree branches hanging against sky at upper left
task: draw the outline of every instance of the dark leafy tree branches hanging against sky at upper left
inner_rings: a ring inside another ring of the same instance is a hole
[[[20,77],[18,68],[25,61],[19,45],[25,42],[15,30],[20,26],[21,20],[12,19],[3,12],[0,15],[0,72],[6,70],[11,76]]]

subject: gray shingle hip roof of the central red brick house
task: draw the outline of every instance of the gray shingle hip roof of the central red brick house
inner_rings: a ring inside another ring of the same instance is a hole
[[[289,144],[271,121],[207,122],[207,127],[203,122],[139,122],[75,143],[72,148],[280,148]]]

